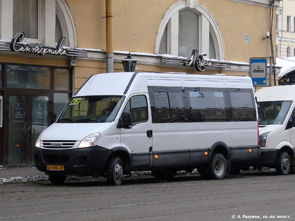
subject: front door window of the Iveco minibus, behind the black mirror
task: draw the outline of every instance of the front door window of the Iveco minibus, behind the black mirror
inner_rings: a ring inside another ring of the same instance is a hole
[[[132,125],[148,121],[147,100],[144,95],[130,98],[124,111],[129,111],[132,117]]]

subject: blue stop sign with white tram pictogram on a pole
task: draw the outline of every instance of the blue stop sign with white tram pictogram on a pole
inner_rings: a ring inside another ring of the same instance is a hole
[[[250,77],[253,85],[266,85],[267,58],[250,58]]]

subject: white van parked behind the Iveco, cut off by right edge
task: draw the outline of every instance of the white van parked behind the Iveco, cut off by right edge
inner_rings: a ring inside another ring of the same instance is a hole
[[[295,85],[265,87],[258,101],[261,156],[255,168],[275,168],[278,174],[295,171]]]

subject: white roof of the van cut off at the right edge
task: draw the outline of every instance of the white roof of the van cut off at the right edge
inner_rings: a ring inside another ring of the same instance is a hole
[[[295,85],[264,87],[255,93],[257,101],[294,100]]]

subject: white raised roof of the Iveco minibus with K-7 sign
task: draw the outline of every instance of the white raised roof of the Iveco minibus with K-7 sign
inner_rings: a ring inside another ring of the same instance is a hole
[[[135,77],[177,77],[199,79],[227,79],[247,80],[250,77],[224,76],[224,75],[195,75],[186,73],[154,73],[154,72],[115,72],[90,76],[75,96],[87,95],[124,95],[127,93]]]

